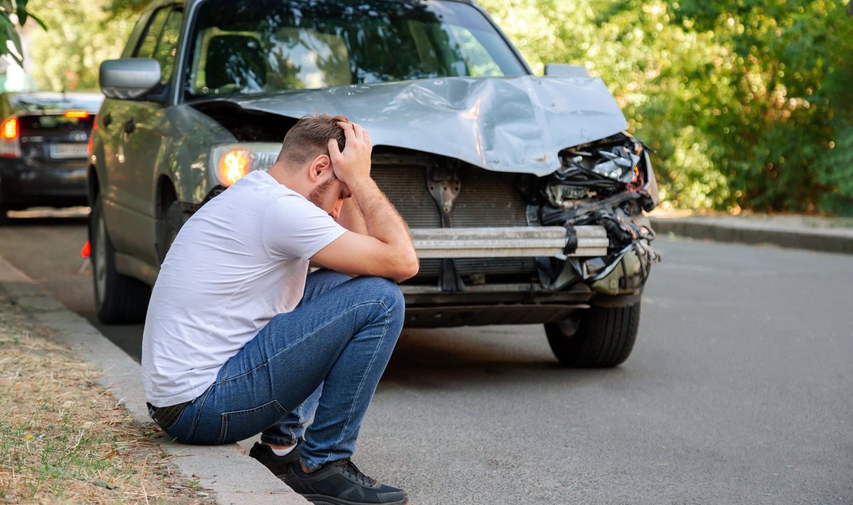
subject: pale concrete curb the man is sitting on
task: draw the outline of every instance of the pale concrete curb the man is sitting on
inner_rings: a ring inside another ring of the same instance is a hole
[[[107,340],[83,317],[67,310],[26,274],[0,258],[0,293],[12,299],[34,322],[53,330],[57,340],[69,345],[85,361],[104,370],[100,386],[119,398],[136,422],[151,422],[142,388],[142,367]],[[217,502],[253,505],[305,505],[299,496],[239,444],[185,445],[162,434],[155,438],[187,478],[212,490]]]

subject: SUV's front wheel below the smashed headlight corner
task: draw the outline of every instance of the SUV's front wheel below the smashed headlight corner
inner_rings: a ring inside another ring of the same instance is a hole
[[[605,369],[628,359],[639,328],[637,299],[627,306],[593,305],[579,319],[545,324],[545,334],[560,363]]]

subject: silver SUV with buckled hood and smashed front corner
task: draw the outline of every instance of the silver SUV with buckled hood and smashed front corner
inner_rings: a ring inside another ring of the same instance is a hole
[[[601,79],[546,73],[469,0],[154,3],[101,67],[98,316],[141,319],[185,220],[272,165],[297,119],[342,114],[421,258],[409,327],[541,323],[563,363],[622,363],[658,259],[648,149]]]

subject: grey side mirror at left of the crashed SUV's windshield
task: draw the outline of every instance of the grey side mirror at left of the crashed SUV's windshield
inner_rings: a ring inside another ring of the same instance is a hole
[[[142,98],[160,84],[160,63],[150,58],[122,58],[101,64],[101,90],[107,98]]]

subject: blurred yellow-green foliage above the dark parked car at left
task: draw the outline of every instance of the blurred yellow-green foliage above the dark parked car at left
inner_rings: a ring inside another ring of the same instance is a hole
[[[97,90],[101,62],[118,58],[133,27],[134,14],[115,13],[110,0],[31,0],[43,13],[47,32],[30,38],[28,71],[44,90]]]

